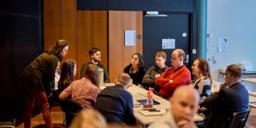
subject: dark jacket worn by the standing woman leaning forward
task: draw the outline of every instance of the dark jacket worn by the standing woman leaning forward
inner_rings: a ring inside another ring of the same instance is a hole
[[[55,78],[55,70],[59,58],[54,54],[42,53],[33,60],[23,71],[21,82],[34,90],[51,91],[51,82]]]

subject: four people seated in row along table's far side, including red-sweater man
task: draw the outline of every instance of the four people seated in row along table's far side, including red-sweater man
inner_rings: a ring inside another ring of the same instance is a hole
[[[184,65],[185,53],[182,49],[175,49],[172,52],[172,67],[165,64],[167,54],[159,51],[155,55],[155,65],[147,71],[144,68],[142,54],[132,55],[132,62],[124,68],[124,73],[131,76],[133,84],[148,89],[154,87],[157,94],[168,99],[174,90],[180,85],[195,87],[202,96],[211,94],[212,78],[210,66],[207,60],[197,58],[192,65],[192,74],[195,80],[191,81],[191,73]]]

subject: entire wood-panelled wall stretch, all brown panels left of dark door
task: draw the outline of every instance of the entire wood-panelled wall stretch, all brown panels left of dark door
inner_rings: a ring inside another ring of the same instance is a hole
[[[77,60],[77,78],[89,49],[102,50],[102,64],[109,68],[112,82],[131,61],[133,53],[142,53],[142,39],[136,46],[124,46],[124,30],[142,35],[141,11],[77,11],[76,0],[44,0],[44,48],[58,39],[69,41],[67,58]],[[109,44],[108,44],[109,43]]]

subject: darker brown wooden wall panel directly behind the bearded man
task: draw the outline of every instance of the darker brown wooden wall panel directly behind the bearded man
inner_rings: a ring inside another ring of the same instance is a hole
[[[77,11],[78,73],[82,63],[90,60],[88,52],[92,47],[101,49],[101,63],[108,67],[107,23],[107,11]]]

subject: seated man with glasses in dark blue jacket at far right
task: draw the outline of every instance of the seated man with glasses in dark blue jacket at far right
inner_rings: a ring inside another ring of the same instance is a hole
[[[228,65],[225,72],[225,82],[220,85],[220,91],[208,97],[203,107],[212,111],[207,127],[229,127],[233,112],[249,108],[248,91],[240,80],[242,69],[238,65]]]

